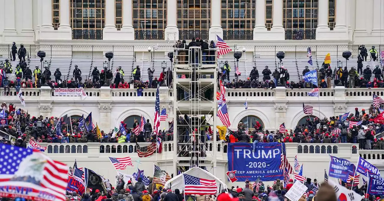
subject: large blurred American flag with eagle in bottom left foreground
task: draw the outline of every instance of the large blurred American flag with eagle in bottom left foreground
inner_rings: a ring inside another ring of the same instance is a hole
[[[11,145],[0,146],[0,185],[9,187],[2,196],[17,198],[26,196],[22,189],[30,190],[28,199],[65,201],[68,185],[68,166],[35,149]],[[28,179],[26,179],[28,178]],[[13,189],[13,190],[11,190]],[[20,190],[20,191],[19,191]]]

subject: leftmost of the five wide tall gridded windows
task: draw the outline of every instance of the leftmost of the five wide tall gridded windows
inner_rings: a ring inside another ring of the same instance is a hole
[[[103,39],[105,0],[71,0],[73,39]]]

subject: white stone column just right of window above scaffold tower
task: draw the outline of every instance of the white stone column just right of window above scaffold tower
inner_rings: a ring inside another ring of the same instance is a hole
[[[223,28],[221,27],[221,1],[211,1],[211,26],[209,28],[209,40],[217,40],[216,35],[223,38]]]

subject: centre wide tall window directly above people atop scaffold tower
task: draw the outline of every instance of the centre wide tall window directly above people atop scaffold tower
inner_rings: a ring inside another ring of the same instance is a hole
[[[179,39],[208,39],[211,0],[177,0]]]

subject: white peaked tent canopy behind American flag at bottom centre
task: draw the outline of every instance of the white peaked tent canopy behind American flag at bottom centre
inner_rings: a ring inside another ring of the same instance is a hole
[[[203,170],[202,168],[199,167],[193,167],[187,171],[184,172],[184,174],[195,176],[197,178],[202,178],[202,179],[209,179],[209,180],[216,180],[217,183],[217,193],[220,193],[222,189],[227,189],[227,185],[223,181],[221,181],[219,178],[216,176],[212,175],[206,170]],[[168,180],[166,184],[164,185],[165,188],[170,188],[172,191],[175,189],[179,189],[180,192],[183,191],[184,189],[184,177],[183,174],[177,175],[174,178]]]

